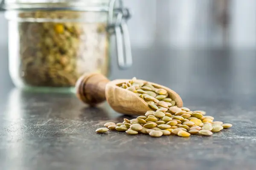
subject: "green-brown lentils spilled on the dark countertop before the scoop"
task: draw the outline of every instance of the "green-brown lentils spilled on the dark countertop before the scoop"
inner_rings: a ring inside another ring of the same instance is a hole
[[[171,134],[189,137],[191,134],[210,136],[213,132],[232,127],[229,123],[213,121],[214,117],[205,114],[205,111],[190,111],[189,108],[172,106],[166,112],[158,109],[147,111],[145,116],[138,116],[136,119],[124,119],[122,123],[105,123],[105,127],[97,129],[96,132],[117,130],[128,135],[143,133],[152,137]]]

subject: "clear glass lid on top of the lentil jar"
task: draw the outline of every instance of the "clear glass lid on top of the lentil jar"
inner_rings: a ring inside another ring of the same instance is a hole
[[[113,0],[2,0],[0,8],[4,10],[108,11],[111,1]]]

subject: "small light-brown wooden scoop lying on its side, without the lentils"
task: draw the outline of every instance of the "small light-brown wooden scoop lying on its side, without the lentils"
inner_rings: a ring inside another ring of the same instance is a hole
[[[110,81],[104,75],[98,73],[84,75],[76,83],[76,95],[82,102],[92,106],[107,100],[108,104],[116,112],[129,115],[145,115],[147,111],[152,110],[148,103],[134,92],[118,86],[128,81],[129,79]],[[137,79],[137,81],[147,82],[140,79]],[[175,91],[163,85],[150,83],[156,88],[163,88],[168,91],[169,96],[176,102],[179,108],[183,106],[182,99]]]

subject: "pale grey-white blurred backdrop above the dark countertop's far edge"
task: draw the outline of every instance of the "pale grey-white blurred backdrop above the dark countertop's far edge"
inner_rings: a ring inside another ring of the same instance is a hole
[[[175,51],[256,47],[255,0],[125,0],[125,6],[133,11],[128,21],[133,51],[152,47]],[[223,20],[225,12],[229,16],[227,27],[219,20]],[[2,88],[12,85],[8,72],[8,25],[3,12],[0,33]],[[139,57],[134,56],[135,61]],[[114,55],[112,61],[113,69],[118,71]],[[234,58],[231,62],[238,61]]]

